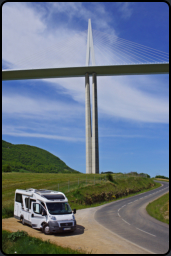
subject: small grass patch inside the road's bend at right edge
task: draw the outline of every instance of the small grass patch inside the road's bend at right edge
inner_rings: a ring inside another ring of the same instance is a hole
[[[169,193],[149,203],[146,210],[155,219],[169,224]]]

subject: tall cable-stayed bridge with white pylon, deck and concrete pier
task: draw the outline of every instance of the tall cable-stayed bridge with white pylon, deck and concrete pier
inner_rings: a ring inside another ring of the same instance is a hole
[[[49,55],[51,63],[47,62]],[[62,58],[66,55],[67,59]],[[97,76],[168,73],[168,53],[92,30],[89,19],[88,31],[65,38],[65,42],[59,40],[36,56],[28,53],[15,61],[14,69],[2,70],[2,80],[85,77],[86,173],[99,173]],[[92,76],[92,124],[89,76]]]

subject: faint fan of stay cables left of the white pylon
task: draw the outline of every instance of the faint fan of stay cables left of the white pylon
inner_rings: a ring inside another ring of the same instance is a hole
[[[65,35],[52,44],[27,49],[12,63],[12,69],[41,69],[85,65],[87,30]],[[53,40],[54,41],[54,40]],[[27,45],[27,42],[25,42]]]

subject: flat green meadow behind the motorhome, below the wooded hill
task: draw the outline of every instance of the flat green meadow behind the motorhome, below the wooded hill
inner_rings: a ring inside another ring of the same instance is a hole
[[[70,186],[72,185],[71,182],[76,182],[75,184],[78,185],[78,177],[80,181],[81,179],[86,179],[86,176],[87,180],[93,180],[94,178],[94,175],[81,173],[79,175],[75,173],[2,173],[2,205],[13,204],[16,189],[35,188],[58,190],[59,184],[59,190],[65,192],[61,187],[68,180],[70,181]]]

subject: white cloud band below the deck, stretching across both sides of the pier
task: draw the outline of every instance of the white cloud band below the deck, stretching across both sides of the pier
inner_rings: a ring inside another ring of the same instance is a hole
[[[54,88],[65,88],[75,101],[62,102],[47,98],[36,98],[19,94],[8,94],[2,97],[2,112],[8,116],[20,116],[31,119],[64,120],[78,119],[85,114],[85,81],[84,78],[49,79],[49,85]],[[91,77],[90,77],[91,81]],[[122,118],[126,120],[147,123],[168,123],[168,96],[159,93],[145,92],[140,84],[141,76],[134,79],[126,77],[98,77],[98,111],[101,117]],[[151,79],[143,78],[145,85]],[[57,84],[58,83],[58,84]],[[138,86],[137,86],[138,87]],[[160,87],[160,80],[156,88]],[[161,88],[162,92],[162,88]]]

